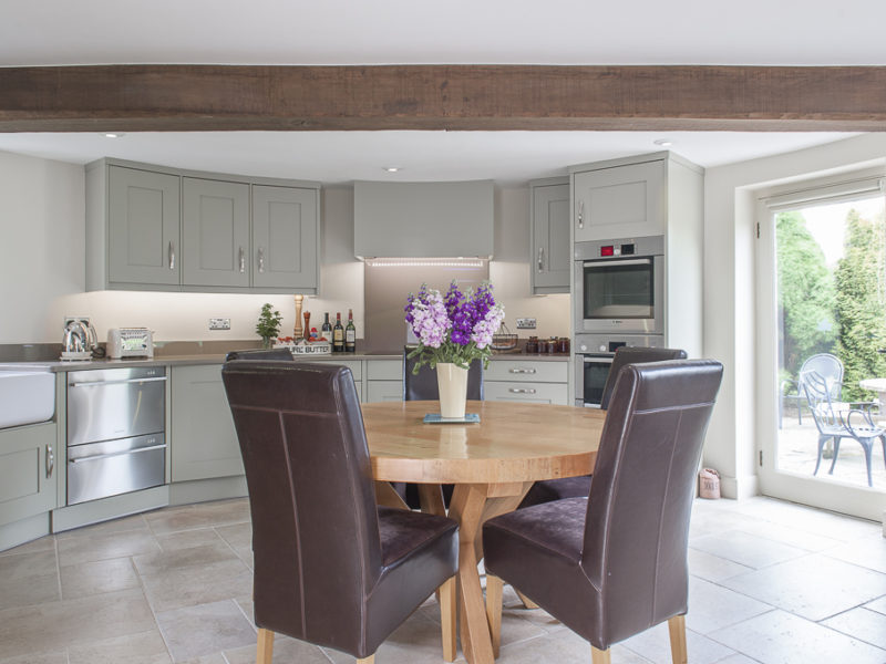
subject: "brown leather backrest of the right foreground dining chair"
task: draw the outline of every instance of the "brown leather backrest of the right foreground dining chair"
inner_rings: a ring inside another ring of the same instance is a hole
[[[591,477],[581,560],[600,593],[599,642],[686,613],[689,517],[722,374],[710,360],[621,372]]]

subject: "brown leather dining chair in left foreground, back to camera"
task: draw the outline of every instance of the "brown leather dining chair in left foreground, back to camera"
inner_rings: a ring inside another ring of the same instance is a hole
[[[222,375],[249,489],[259,664],[275,632],[371,663],[437,588],[452,661],[457,526],[377,507],[350,370],[234,360]]]

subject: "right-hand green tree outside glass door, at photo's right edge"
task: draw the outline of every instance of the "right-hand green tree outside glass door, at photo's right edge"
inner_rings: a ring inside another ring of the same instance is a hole
[[[845,253],[836,270],[843,398],[867,398],[858,381],[886,375],[886,359],[877,352],[886,345],[884,232],[883,216],[863,219],[854,209],[846,216]]]

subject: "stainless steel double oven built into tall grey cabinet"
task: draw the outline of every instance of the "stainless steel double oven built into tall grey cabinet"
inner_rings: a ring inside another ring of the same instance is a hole
[[[622,345],[664,345],[664,238],[575,245],[575,400],[600,407]]]

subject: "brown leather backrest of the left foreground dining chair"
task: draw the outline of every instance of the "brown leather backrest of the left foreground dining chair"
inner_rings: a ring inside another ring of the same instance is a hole
[[[353,652],[381,540],[351,371],[240,360],[222,376],[249,489],[256,624]]]

